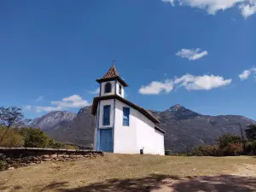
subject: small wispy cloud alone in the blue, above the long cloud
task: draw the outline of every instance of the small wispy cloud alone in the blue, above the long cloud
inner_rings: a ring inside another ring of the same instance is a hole
[[[207,50],[201,51],[200,48],[197,49],[181,49],[177,52],[177,56],[180,56],[182,58],[187,58],[190,61],[198,60],[201,57],[208,55]]]

